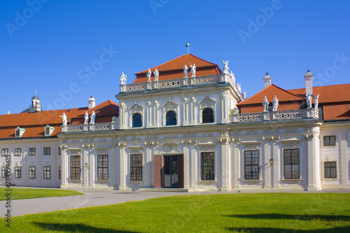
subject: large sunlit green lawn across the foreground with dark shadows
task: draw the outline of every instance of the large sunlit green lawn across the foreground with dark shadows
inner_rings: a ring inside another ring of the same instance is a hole
[[[3,219],[0,232],[5,232]],[[349,193],[161,197],[11,219],[11,232],[350,232]]]

